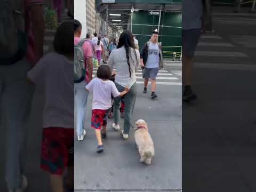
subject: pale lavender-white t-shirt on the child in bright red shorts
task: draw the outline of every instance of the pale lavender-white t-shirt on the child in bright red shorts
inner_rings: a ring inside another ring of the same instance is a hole
[[[92,109],[111,108],[111,95],[115,98],[120,94],[113,81],[103,81],[98,77],[93,78],[85,87],[93,92]]]

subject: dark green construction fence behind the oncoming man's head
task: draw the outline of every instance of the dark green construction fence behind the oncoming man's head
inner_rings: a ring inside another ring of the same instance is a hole
[[[158,28],[159,15],[149,11],[133,12],[132,33],[139,41],[140,49],[149,41],[151,32]],[[162,12],[159,27],[159,42],[162,43],[165,58],[176,58],[181,54],[181,12]]]

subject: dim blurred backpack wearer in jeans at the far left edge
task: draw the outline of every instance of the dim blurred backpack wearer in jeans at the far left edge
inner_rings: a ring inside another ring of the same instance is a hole
[[[3,150],[9,192],[23,192],[28,186],[24,170],[34,85],[28,83],[26,76],[43,55],[45,30],[43,0],[22,2],[25,3],[14,0],[0,3],[3,19],[0,23],[0,125],[6,138]],[[26,23],[25,28],[22,23]]]

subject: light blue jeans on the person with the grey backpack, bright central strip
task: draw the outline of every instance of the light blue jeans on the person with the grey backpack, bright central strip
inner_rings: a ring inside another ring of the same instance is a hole
[[[87,83],[75,83],[75,112],[76,112],[76,133],[77,135],[83,134],[85,111],[87,106],[87,99],[89,92],[85,90]]]

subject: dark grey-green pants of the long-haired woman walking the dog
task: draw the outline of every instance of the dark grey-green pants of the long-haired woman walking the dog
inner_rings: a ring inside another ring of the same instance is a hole
[[[124,91],[124,87],[115,83],[116,88],[119,92]],[[134,83],[127,94],[124,95],[124,133],[128,134],[130,130],[132,122],[132,114],[136,101],[137,95],[137,84]],[[119,124],[120,122],[120,103],[121,97],[115,98],[114,102],[114,122],[115,124]]]

